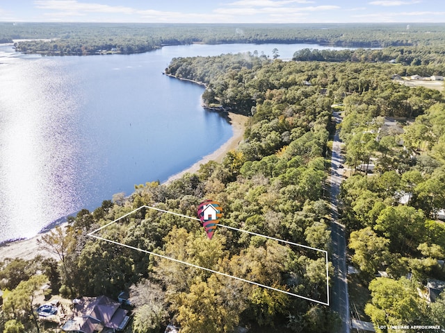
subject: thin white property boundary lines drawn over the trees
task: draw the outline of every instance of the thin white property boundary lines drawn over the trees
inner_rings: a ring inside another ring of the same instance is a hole
[[[106,239],[106,238],[99,237],[99,236],[95,235],[95,233],[98,232],[99,230],[102,230],[102,229],[108,227],[108,225],[111,225],[111,224],[113,224],[115,222],[118,222],[120,219],[123,219],[124,217],[127,217],[127,216],[129,216],[129,215],[131,215],[131,214],[133,214],[133,213],[135,213],[138,210],[141,210],[143,208],[148,208],[150,210],[157,210],[159,212],[168,213],[168,214],[172,214],[172,215],[185,217],[187,219],[200,221],[200,219],[197,219],[197,218],[192,217],[192,216],[187,216],[187,215],[184,215],[184,214],[179,214],[179,213],[175,213],[175,212],[170,212],[168,210],[161,210],[161,209],[156,208],[156,207],[150,207],[150,206],[147,206],[147,205],[143,205],[143,206],[140,206],[139,208],[136,208],[136,210],[133,210],[133,211],[127,213],[127,214],[124,214],[124,215],[120,216],[120,218],[115,219],[114,221],[111,221],[110,223],[107,223],[106,225],[103,225],[100,228],[97,228],[96,230],[94,230],[94,231],[90,232],[89,234],[87,234],[87,236],[94,237],[96,239],[101,239],[102,241],[108,241],[108,243],[111,243],[111,244],[124,246],[125,248],[131,248],[132,250],[137,250],[139,252],[148,253],[149,255],[155,255],[156,257],[161,257],[163,259],[168,259],[168,260],[171,260],[172,262],[179,262],[179,264],[185,264],[185,265],[192,266],[192,267],[195,267],[195,268],[200,268],[200,269],[202,269],[204,271],[208,271],[208,272],[211,272],[211,273],[223,275],[223,276],[225,276],[227,278],[232,278],[232,279],[239,280],[239,281],[242,281],[242,282],[247,282],[247,283],[250,283],[250,284],[254,284],[254,285],[258,286],[258,287],[270,289],[270,290],[273,290],[273,291],[278,291],[280,293],[286,293],[287,295],[290,295],[290,296],[294,296],[294,297],[302,298],[304,300],[309,300],[311,302],[316,302],[318,304],[330,306],[330,303],[329,303],[329,301],[330,301],[329,300],[329,262],[327,260],[327,251],[326,250],[321,250],[319,248],[312,248],[310,246],[305,246],[305,245],[302,245],[302,244],[293,243],[291,241],[285,241],[284,239],[278,239],[278,238],[274,238],[274,237],[269,237],[269,236],[266,236],[265,234],[257,234],[256,232],[251,232],[251,231],[248,231],[248,230],[242,230],[242,229],[238,229],[238,228],[233,228],[233,227],[229,227],[228,225],[223,225],[223,224],[219,224],[218,223],[218,227],[232,229],[232,230],[236,230],[236,231],[239,231],[239,232],[245,232],[245,233],[248,233],[248,234],[253,234],[254,236],[264,237],[264,238],[267,238],[267,239],[273,239],[274,241],[279,241],[281,243],[291,244],[293,246],[300,246],[301,248],[308,248],[309,250],[316,250],[318,252],[325,253],[325,258],[326,258],[326,295],[327,295],[327,302],[322,302],[321,300],[314,300],[313,298],[308,298],[308,297],[305,297],[305,296],[301,296],[301,295],[298,295],[296,293],[291,293],[289,291],[284,291],[282,289],[277,289],[277,288],[274,288],[274,287],[266,286],[266,284],[261,284],[261,283],[253,282],[253,281],[250,281],[250,280],[245,280],[243,278],[238,278],[237,276],[234,276],[234,275],[229,275],[229,274],[226,274],[226,273],[214,271],[213,269],[210,269],[210,268],[197,266],[197,265],[191,264],[189,262],[183,262],[181,260],[170,258],[170,257],[167,257],[165,255],[160,255],[159,253],[154,253],[154,252],[151,252],[151,251],[143,250],[142,248],[136,248],[134,246],[129,246],[127,244],[122,244],[122,243],[119,243],[118,241],[111,241],[110,239]]]

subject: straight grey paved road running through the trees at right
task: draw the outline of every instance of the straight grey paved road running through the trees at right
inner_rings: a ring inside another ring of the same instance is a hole
[[[334,112],[336,123],[340,123],[341,118]],[[348,298],[348,280],[346,266],[346,237],[345,226],[339,223],[339,213],[337,212],[337,197],[340,193],[340,184],[343,177],[341,165],[339,130],[335,133],[334,144],[332,145],[332,171],[331,171],[331,203],[332,203],[332,265],[334,266],[334,276],[332,277],[332,289],[330,294],[331,307],[341,318],[341,327],[332,333],[350,332],[350,312]]]

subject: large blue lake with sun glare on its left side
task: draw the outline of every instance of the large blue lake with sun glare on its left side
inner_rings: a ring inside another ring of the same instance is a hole
[[[32,237],[134,185],[168,179],[232,136],[203,87],[162,75],[174,57],[308,44],[165,46],[149,53],[40,57],[0,46],[0,243]]]

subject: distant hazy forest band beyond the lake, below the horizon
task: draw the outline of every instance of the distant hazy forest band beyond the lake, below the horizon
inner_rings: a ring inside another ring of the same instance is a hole
[[[47,54],[137,53],[171,44],[307,43],[375,48],[443,44],[444,24],[0,23],[0,41]],[[38,41],[36,41],[38,40]]]

